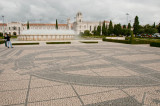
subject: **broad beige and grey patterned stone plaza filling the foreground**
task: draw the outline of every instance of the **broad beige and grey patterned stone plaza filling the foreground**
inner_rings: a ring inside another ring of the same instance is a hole
[[[0,45],[0,106],[160,106],[160,48]]]

